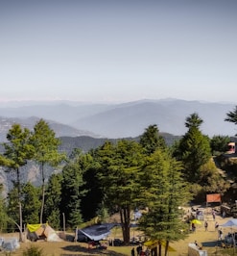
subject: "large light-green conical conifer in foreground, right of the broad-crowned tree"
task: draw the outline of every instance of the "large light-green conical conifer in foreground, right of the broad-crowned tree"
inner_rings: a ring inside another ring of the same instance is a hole
[[[151,240],[160,244],[166,242],[167,255],[169,243],[187,235],[187,225],[181,221],[179,207],[190,195],[181,177],[181,164],[167,150],[156,150],[145,163],[140,172],[140,200],[149,210],[139,219],[139,229]]]

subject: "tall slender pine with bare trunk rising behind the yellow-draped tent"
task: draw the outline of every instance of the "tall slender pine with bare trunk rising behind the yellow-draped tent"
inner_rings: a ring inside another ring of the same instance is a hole
[[[42,200],[39,220],[42,223],[45,200],[45,166],[58,166],[65,159],[65,154],[59,153],[60,141],[43,119],[40,119],[34,127],[32,144],[35,147],[34,160],[40,166],[42,178]]]

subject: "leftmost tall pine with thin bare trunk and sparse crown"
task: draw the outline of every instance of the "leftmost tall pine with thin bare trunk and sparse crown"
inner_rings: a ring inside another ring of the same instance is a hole
[[[22,206],[21,206],[21,180],[20,167],[25,166],[27,161],[33,157],[34,148],[30,144],[31,134],[27,128],[22,129],[20,124],[13,124],[7,134],[8,142],[3,143],[4,156],[7,161],[7,171],[13,171],[16,174],[15,186],[17,188],[18,213],[20,231],[20,241],[22,241]]]

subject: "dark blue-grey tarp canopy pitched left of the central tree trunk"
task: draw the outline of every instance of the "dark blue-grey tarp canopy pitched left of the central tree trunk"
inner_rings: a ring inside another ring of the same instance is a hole
[[[79,229],[79,232],[83,233],[84,236],[93,241],[100,241],[105,239],[109,234],[110,230],[116,226],[115,223],[104,223],[100,225],[92,225]]]

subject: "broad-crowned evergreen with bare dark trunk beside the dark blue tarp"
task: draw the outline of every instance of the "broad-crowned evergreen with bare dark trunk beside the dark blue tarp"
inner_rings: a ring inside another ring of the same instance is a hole
[[[104,201],[110,209],[117,207],[125,243],[130,243],[130,211],[135,208],[139,193],[141,151],[139,143],[121,140],[115,145],[106,142],[97,152]]]

